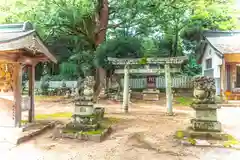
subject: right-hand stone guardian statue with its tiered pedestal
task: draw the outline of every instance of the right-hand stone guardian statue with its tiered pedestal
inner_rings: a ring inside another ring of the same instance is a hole
[[[221,131],[221,123],[217,120],[215,102],[215,81],[213,78],[199,76],[194,78],[194,101],[191,107],[196,116],[191,120],[192,129],[195,131]]]

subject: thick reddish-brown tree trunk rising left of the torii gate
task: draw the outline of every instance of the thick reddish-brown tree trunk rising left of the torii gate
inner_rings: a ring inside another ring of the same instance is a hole
[[[95,45],[96,47],[103,43],[106,38],[108,20],[109,20],[109,7],[108,7],[108,0],[100,0],[102,4],[99,4],[100,10],[96,15],[97,18],[97,32],[95,34]],[[104,84],[106,72],[103,68],[96,69],[96,84],[94,87],[95,90],[95,98],[99,95],[101,91],[101,87]]]

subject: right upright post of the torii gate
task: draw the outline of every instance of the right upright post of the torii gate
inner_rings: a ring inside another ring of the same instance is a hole
[[[172,109],[172,78],[170,73],[170,65],[165,64],[165,85],[166,85],[166,106],[167,114],[173,115]]]

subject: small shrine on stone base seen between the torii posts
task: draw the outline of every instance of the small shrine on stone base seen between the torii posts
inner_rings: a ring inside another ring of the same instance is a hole
[[[145,101],[158,101],[159,90],[156,89],[156,77],[147,76],[147,89],[142,92],[143,100]]]

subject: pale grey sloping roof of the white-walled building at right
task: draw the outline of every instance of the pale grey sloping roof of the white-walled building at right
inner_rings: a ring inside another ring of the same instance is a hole
[[[220,53],[240,53],[240,32],[208,32],[204,33],[207,41]]]

